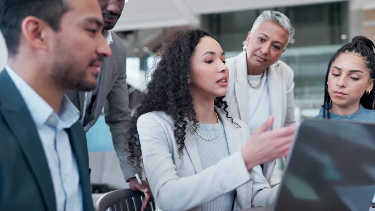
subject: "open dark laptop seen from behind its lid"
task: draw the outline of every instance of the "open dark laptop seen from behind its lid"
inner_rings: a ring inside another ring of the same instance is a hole
[[[375,194],[375,124],[303,121],[274,211],[368,211]]]

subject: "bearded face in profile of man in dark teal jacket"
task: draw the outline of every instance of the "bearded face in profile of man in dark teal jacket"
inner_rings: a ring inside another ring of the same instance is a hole
[[[103,17],[98,2],[66,0],[69,10],[52,39],[51,77],[65,89],[95,89],[103,57],[111,49],[102,35]]]

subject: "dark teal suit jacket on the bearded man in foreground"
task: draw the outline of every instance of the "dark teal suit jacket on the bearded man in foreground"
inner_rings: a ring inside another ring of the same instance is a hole
[[[0,72],[0,90],[0,210],[55,211],[54,187],[36,125],[5,70]],[[67,132],[80,174],[83,207],[93,211],[86,136],[79,122]]]

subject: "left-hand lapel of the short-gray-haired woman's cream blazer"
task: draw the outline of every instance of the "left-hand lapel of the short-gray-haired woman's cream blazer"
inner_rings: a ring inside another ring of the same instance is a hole
[[[236,93],[240,117],[242,121],[247,123],[249,121],[249,85],[247,81],[248,65],[246,63],[245,51],[240,53],[238,56],[236,68],[236,82],[234,83],[234,90]]]

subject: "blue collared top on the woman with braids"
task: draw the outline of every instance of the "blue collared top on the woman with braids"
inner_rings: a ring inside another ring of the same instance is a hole
[[[365,109],[362,106],[362,104],[360,104],[359,109],[356,113],[353,113],[348,116],[341,116],[341,115],[331,113],[329,112],[331,108],[332,108],[332,104],[328,104],[326,109],[324,109],[322,105],[318,116],[315,116],[315,118],[323,119],[323,110],[324,110],[324,112],[326,112],[326,118],[327,118],[327,114],[329,113],[330,119],[344,120],[344,121],[358,121],[358,122],[375,122],[375,110]]]

